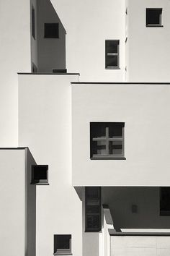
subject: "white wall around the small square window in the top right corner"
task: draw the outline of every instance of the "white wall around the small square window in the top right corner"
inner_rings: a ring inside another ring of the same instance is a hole
[[[164,27],[146,27],[146,8],[162,8]],[[128,0],[128,81],[169,82],[169,0]]]

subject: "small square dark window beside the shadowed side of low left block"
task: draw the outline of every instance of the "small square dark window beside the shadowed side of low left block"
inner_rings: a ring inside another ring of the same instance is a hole
[[[48,184],[48,166],[32,166],[31,184]]]

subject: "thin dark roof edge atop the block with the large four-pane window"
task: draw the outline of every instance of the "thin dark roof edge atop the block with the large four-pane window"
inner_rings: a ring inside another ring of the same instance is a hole
[[[71,82],[74,85],[170,85],[170,82]]]

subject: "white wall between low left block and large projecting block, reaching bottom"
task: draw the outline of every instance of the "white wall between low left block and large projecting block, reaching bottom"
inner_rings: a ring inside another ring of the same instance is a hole
[[[19,145],[48,164],[49,186],[36,191],[36,255],[53,256],[53,235],[71,234],[82,255],[82,203],[71,187],[71,81],[78,75],[19,75]]]

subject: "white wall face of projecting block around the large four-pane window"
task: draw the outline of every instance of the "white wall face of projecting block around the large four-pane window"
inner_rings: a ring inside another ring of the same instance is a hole
[[[71,86],[73,185],[169,186],[170,85]],[[91,121],[125,122],[126,160],[90,159]]]

